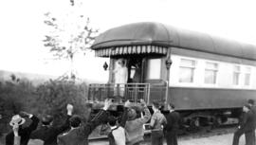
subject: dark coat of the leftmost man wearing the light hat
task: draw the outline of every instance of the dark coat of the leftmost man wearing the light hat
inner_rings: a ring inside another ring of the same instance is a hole
[[[19,128],[19,136],[21,136],[21,145],[27,145],[29,136],[32,131],[34,131],[37,128],[37,125],[39,123],[39,118],[33,116],[31,118],[32,122],[30,123],[29,126],[23,127],[21,126]],[[14,140],[14,134],[13,132],[10,132],[6,136],[6,145],[13,145],[13,140]]]

